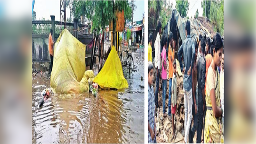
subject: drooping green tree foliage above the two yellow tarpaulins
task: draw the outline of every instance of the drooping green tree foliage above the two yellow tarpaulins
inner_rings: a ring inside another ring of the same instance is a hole
[[[109,22],[116,19],[113,13],[113,3],[110,0],[74,0],[72,3],[72,14],[75,18],[85,17],[92,20],[92,29],[100,29],[109,25]],[[132,8],[128,0],[115,1],[114,8],[124,10],[125,20],[132,18]],[[115,25],[114,25],[115,27]]]

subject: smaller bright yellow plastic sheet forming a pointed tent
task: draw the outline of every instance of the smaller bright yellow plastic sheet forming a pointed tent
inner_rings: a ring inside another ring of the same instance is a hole
[[[95,77],[94,82],[102,88],[123,89],[128,83],[123,76],[123,68],[118,54],[113,46],[102,70]]]

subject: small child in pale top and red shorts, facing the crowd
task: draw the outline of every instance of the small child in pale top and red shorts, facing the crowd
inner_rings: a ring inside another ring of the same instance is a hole
[[[173,60],[172,63],[172,97],[171,97],[171,114],[172,114],[172,138],[174,138],[174,115],[177,107],[177,78],[176,78],[176,60]]]

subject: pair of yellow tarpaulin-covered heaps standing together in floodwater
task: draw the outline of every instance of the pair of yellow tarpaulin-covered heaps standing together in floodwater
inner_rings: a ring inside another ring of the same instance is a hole
[[[89,83],[93,81],[103,89],[128,88],[115,48],[112,48],[103,69],[95,77],[92,70],[85,71],[85,45],[64,29],[54,48],[50,81],[52,91],[62,94],[89,92]]]

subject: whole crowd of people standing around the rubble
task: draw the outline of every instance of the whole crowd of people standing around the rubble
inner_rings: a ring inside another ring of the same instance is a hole
[[[202,130],[204,143],[224,142],[224,44],[220,34],[209,37],[201,34],[193,40],[190,36],[190,20],[185,26],[186,39],[178,50],[178,63],[174,58],[176,40],[173,34],[161,35],[161,22],[157,23],[157,36],[154,43],[155,57],[152,60],[152,34],[148,45],[148,143],[156,143],[155,111],[159,108],[159,79],[162,79],[163,117],[166,91],[168,93],[168,118],[172,122],[174,138],[174,116],[177,109],[177,71],[180,66],[183,76],[184,91],[184,140],[193,143],[197,132],[196,143],[201,143]],[[161,45],[161,42],[163,44]],[[167,53],[167,45],[168,53]],[[161,50],[162,48],[162,50]],[[167,59],[169,67],[167,70]],[[153,63],[154,64],[153,64]],[[156,69],[155,92],[153,89],[153,70]],[[161,73],[160,73],[161,69]],[[167,88],[169,81],[169,88]],[[193,117],[193,125],[191,124]]]

